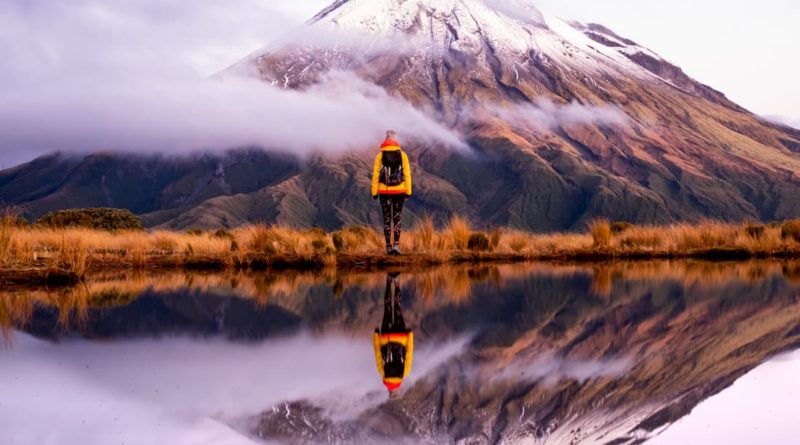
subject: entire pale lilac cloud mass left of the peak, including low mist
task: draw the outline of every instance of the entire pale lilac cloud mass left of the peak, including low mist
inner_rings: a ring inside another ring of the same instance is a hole
[[[210,78],[295,26],[260,0],[3,2],[0,164],[53,150],[336,152],[374,145],[387,128],[460,145],[346,73],[304,92]]]

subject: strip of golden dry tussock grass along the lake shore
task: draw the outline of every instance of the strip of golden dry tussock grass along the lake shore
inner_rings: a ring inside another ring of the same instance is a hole
[[[714,221],[632,226],[595,221],[586,233],[473,230],[462,218],[442,228],[423,220],[402,238],[403,256],[383,253],[367,227],[253,225],[216,232],[21,227],[0,221],[0,284],[76,282],[116,269],[384,269],[438,264],[649,259],[800,258],[800,221],[772,225]]]

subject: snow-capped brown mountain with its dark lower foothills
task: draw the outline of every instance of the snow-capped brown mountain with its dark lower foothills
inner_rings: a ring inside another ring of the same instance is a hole
[[[606,27],[542,14],[528,0],[339,0],[221,76],[252,71],[297,90],[351,72],[460,134],[467,151],[404,134],[416,173],[409,222],[460,212],[478,225],[543,231],[600,216],[800,217],[800,131],[755,116]],[[31,216],[128,207],[171,228],[374,224],[374,151],[302,162],[249,152],[263,168],[234,161],[241,168],[224,178],[215,166],[230,154],[51,155],[0,173],[0,200]],[[150,165],[165,176],[148,177],[134,200],[139,175],[121,169]]]

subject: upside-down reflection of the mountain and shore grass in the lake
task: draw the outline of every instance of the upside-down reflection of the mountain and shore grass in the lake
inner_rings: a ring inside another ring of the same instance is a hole
[[[800,346],[798,270],[653,262],[405,274],[404,315],[418,343],[435,347],[471,333],[466,350],[415,375],[399,400],[347,416],[314,400],[287,401],[264,407],[257,432],[293,443],[635,443],[768,357]],[[121,281],[129,287],[100,277],[83,290],[4,295],[0,323],[46,337],[256,340],[301,328],[363,337],[381,317],[385,276]]]

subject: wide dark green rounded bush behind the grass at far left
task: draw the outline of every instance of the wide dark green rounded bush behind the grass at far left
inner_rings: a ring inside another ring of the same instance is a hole
[[[143,230],[142,222],[127,209],[67,209],[51,212],[36,221],[50,228],[86,227],[98,230]]]

